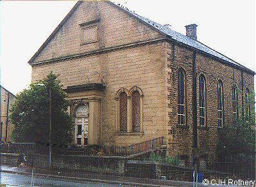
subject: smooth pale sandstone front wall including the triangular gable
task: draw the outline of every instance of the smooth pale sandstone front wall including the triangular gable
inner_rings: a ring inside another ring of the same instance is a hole
[[[96,19],[99,19],[98,41],[81,45],[79,24]],[[162,36],[157,31],[106,2],[85,1],[42,50],[35,62],[109,47],[122,47],[160,37]],[[155,42],[61,62],[32,65],[32,82],[53,71],[60,74],[59,79],[64,88],[103,83],[106,89],[101,100],[101,144],[122,146],[148,140],[167,132],[165,48],[164,42]],[[133,86],[140,87],[143,93],[144,135],[116,135],[115,94],[121,87],[129,90]]]

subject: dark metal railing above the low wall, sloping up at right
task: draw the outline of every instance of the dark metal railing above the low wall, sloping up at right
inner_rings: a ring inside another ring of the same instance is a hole
[[[156,149],[164,145],[164,137],[157,137],[151,140],[145,140],[131,144],[129,146],[62,146],[51,145],[52,154],[65,155],[86,155],[86,156],[130,156],[132,154],[142,153],[149,149]],[[49,144],[38,142],[32,143],[6,143],[2,142],[2,153],[28,153],[33,151],[38,154],[48,154]]]

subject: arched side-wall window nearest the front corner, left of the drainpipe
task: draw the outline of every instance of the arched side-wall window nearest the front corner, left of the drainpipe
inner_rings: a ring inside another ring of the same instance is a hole
[[[178,124],[185,125],[185,73],[178,73]]]

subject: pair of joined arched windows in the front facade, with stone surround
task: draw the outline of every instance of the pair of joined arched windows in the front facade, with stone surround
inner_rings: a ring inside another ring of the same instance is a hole
[[[119,89],[117,101],[117,131],[142,132],[142,91],[133,86],[130,91]]]

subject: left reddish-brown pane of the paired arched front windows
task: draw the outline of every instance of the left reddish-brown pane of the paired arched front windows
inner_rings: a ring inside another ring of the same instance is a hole
[[[127,94],[119,94],[120,131],[127,132]]]

